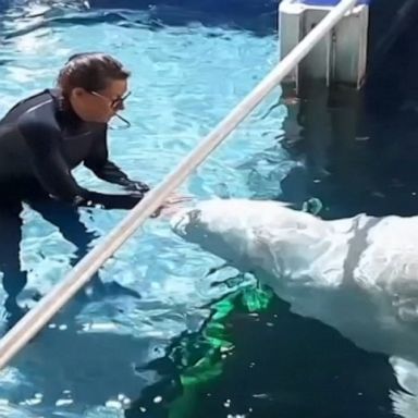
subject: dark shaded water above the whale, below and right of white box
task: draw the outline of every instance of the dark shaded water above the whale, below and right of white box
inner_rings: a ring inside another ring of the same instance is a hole
[[[418,3],[404,5],[407,21],[394,24],[395,39],[380,39],[360,94],[309,85],[288,106],[281,144],[306,164],[288,173],[278,198],[317,197],[327,218],[418,212]]]

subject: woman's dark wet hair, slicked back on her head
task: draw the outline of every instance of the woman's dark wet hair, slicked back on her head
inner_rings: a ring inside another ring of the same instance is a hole
[[[75,53],[58,75],[58,86],[67,96],[75,87],[89,91],[104,89],[109,82],[126,79],[131,73],[114,58],[100,52]]]

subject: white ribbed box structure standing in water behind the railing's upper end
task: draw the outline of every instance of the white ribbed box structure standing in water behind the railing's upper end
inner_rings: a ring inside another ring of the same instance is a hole
[[[280,56],[285,57],[337,0],[282,0],[279,5]],[[369,5],[362,0],[334,26],[284,83],[324,81],[327,86],[345,84],[360,88],[366,75]]]

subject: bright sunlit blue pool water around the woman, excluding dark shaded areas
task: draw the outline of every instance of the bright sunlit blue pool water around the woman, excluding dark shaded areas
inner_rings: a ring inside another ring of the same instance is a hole
[[[150,28],[147,14],[139,12],[109,22],[94,13],[81,20],[49,11],[48,16],[59,16],[50,22],[42,12],[26,10],[39,15],[23,20],[9,11],[3,19],[8,38],[0,51],[0,111],[52,85],[70,54],[113,53],[133,70],[133,95],[124,113],[132,128],[111,131],[111,155],[132,177],[150,184],[160,182],[278,60],[274,35],[260,38],[197,23]],[[190,177],[184,192],[199,198],[251,195],[248,174],[257,161],[244,165],[257,156],[261,161],[260,152],[274,144],[285,107],[265,115],[279,96],[278,89]],[[274,158],[280,181],[295,163],[285,152]],[[75,175],[86,187],[115,189],[84,169]],[[280,192],[279,182],[271,187],[265,193]],[[90,234],[88,245],[94,246],[124,214],[79,210]],[[77,246],[86,243],[65,241],[57,225],[30,208],[22,217],[20,258],[28,283],[21,302],[32,306],[35,291],[45,294],[59,282]],[[70,304],[1,372],[0,397],[8,402],[0,402],[0,416],[122,416],[122,406],[159,379],[156,371],[135,369],[161,357],[174,336],[197,331],[209,315],[204,306],[226,293],[211,290],[204,279],[217,262],[174,237],[163,220],[149,221],[100,271],[104,283],[116,281],[140,298],[110,292]],[[4,293],[0,295],[3,302]]]

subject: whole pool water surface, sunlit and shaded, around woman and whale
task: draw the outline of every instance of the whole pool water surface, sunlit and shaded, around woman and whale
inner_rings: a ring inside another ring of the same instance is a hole
[[[274,33],[196,20],[169,26],[149,11],[44,12],[22,19],[12,10],[3,17],[0,111],[50,86],[70,54],[114,53],[133,70],[133,95],[124,112],[132,127],[111,131],[111,155],[151,184],[278,61]],[[367,120],[351,142],[342,135],[351,111],[296,120],[280,96],[278,88],[182,190],[199,199],[281,198],[296,207],[317,197],[327,218],[414,212],[410,118]],[[75,174],[87,187],[118,190],[83,168]],[[77,239],[69,242],[62,234],[69,220],[50,224],[25,208],[22,303],[47,293],[124,214],[82,209],[79,222],[71,220],[78,222]],[[254,278],[234,279],[232,269],[207,276],[220,263],[175,237],[164,220],[147,222],[100,270],[95,280],[106,286],[78,295],[1,371],[0,416],[395,416],[391,396],[401,389],[386,358],[292,315]]]

